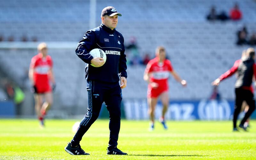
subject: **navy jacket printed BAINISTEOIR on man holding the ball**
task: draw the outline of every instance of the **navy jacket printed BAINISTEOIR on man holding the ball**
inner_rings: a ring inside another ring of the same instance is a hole
[[[106,63],[101,67],[93,67],[89,54],[92,49],[100,48],[107,56]],[[85,79],[102,82],[118,82],[119,76],[127,78],[126,55],[124,54],[124,37],[116,29],[111,30],[101,24],[88,30],[78,43],[76,55],[85,64]]]

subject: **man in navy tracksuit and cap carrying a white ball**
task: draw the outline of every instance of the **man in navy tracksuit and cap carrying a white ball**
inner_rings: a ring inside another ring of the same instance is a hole
[[[124,37],[115,29],[118,16],[122,16],[122,14],[118,13],[114,7],[104,8],[101,12],[102,24],[87,31],[77,45],[76,54],[86,63],[88,111],[82,119],[74,138],[65,148],[71,155],[89,155],[84,152],[79,142],[82,140],[84,133],[98,118],[103,102],[105,102],[109,112],[110,137],[107,154],[127,155],[116,147],[120,130],[121,88],[126,87],[127,78]],[[106,53],[107,60],[105,64],[103,58],[92,57],[89,54],[95,48],[100,48]],[[119,79],[121,85],[119,85]]]

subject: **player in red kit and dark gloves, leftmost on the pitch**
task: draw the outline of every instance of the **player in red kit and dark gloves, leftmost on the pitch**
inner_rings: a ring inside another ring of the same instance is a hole
[[[37,46],[38,54],[31,59],[29,79],[35,93],[35,110],[41,126],[44,126],[44,116],[52,105],[52,90],[55,88],[55,80],[52,71],[52,58],[47,55],[47,46],[40,43]],[[52,82],[52,87],[49,80]],[[45,101],[44,101],[45,99]]]

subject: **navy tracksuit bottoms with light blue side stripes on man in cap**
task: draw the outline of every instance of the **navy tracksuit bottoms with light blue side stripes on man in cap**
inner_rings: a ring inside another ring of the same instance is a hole
[[[100,114],[102,103],[105,102],[109,112],[109,142],[108,148],[117,146],[121,120],[122,90],[119,82],[108,83],[87,80],[88,109],[79,128],[71,140],[72,146],[79,145],[84,133],[90,128]]]

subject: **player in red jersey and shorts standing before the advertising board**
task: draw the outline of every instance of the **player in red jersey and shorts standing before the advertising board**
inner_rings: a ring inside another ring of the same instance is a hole
[[[173,70],[170,60],[165,59],[165,49],[162,46],[156,48],[156,58],[150,60],[144,72],[144,80],[148,82],[148,114],[150,116],[150,130],[154,129],[154,112],[158,97],[163,104],[162,116],[159,121],[163,124],[164,129],[167,129],[164,115],[167,112],[169,105],[168,96],[168,77],[171,73],[174,79],[183,86],[187,85],[185,80]]]

